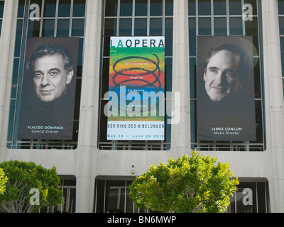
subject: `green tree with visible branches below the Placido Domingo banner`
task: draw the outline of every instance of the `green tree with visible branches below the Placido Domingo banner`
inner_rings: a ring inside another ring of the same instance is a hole
[[[48,170],[34,162],[11,160],[0,163],[0,168],[8,177],[6,191],[0,194],[1,209],[9,213],[31,213],[64,202],[55,167]]]

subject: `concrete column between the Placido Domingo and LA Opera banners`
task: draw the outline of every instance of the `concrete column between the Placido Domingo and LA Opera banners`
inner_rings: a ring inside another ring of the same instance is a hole
[[[102,0],[87,0],[80,126],[77,148],[77,212],[92,212],[97,150]]]

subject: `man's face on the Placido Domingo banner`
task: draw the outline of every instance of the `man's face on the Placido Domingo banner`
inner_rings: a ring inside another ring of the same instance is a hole
[[[41,101],[49,102],[65,94],[70,84],[73,71],[67,73],[62,55],[45,55],[34,63],[35,95]]]

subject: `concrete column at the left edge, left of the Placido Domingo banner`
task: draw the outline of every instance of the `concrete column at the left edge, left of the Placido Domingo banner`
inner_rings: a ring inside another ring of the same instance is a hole
[[[18,0],[5,1],[0,38],[0,162],[6,156]]]

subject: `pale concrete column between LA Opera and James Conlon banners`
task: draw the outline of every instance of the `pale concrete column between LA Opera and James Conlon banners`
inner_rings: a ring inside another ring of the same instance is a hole
[[[174,1],[173,109],[171,148],[176,156],[190,151],[190,64],[187,0]]]

